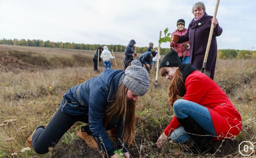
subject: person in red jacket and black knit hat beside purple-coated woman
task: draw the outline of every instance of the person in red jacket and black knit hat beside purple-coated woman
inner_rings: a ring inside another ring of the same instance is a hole
[[[171,34],[171,38],[174,34],[182,36],[187,33],[187,28],[185,27],[185,20],[179,19],[177,21],[177,29]],[[179,54],[179,59],[183,64],[189,64],[190,56],[189,56],[189,41],[184,43],[170,43],[170,47],[174,48],[175,51]]]

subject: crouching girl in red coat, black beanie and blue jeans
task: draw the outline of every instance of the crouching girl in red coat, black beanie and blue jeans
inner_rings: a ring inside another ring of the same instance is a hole
[[[178,53],[171,50],[160,63],[160,73],[172,80],[168,102],[175,115],[157,140],[158,148],[168,138],[176,143],[192,139],[195,145],[189,152],[213,153],[209,139],[238,135],[242,128],[241,115],[218,84],[194,66],[182,64]]]

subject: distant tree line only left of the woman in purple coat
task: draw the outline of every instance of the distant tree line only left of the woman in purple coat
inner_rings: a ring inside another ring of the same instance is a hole
[[[105,46],[104,44],[80,44],[80,43],[69,43],[69,42],[52,42],[52,41],[43,41],[43,40],[26,40],[26,39],[0,39],[0,44],[14,45],[14,46],[35,46],[35,47],[48,47],[48,48],[65,48],[65,49],[80,49],[80,50],[96,50],[100,46]],[[106,45],[108,49],[115,52],[124,52],[126,46],[122,45]],[[146,52],[148,47],[136,47],[136,53]],[[170,48],[161,48],[161,54],[169,53]]]

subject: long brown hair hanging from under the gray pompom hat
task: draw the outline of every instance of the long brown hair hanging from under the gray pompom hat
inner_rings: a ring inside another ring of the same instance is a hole
[[[117,117],[123,117],[122,140],[125,143],[132,144],[134,140],[133,136],[135,135],[135,101],[132,99],[127,100],[127,91],[128,88],[124,84],[118,86],[114,101],[104,112],[104,127],[106,129],[106,126],[115,115]]]

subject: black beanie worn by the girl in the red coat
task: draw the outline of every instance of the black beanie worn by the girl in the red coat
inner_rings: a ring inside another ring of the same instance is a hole
[[[159,69],[161,67],[179,67],[181,64],[182,62],[179,59],[177,51],[174,51],[173,48],[171,48],[171,52],[166,54],[161,61]]]

